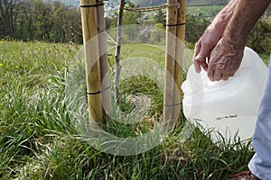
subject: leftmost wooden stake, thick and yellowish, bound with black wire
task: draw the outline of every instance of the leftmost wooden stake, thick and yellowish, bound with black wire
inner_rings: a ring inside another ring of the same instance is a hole
[[[97,6],[91,6],[95,4],[96,0],[80,0],[90,129],[95,129],[94,121],[102,122]]]

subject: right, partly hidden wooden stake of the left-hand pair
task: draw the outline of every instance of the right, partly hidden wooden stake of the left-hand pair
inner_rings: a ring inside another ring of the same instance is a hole
[[[98,4],[103,4],[103,0],[98,0]],[[108,74],[108,58],[107,58],[107,36],[105,22],[104,5],[98,6],[98,49],[99,49],[99,65],[101,80],[101,98],[103,105],[103,115],[112,115],[111,95],[110,95],[110,78]]]

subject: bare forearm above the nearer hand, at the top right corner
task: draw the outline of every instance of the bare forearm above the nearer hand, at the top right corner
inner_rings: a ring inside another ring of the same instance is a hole
[[[264,14],[270,2],[271,0],[238,0],[223,35],[233,48],[241,48],[246,45],[249,32],[260,16]]]

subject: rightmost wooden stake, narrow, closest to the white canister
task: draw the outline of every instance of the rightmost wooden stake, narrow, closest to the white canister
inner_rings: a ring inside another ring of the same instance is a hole
[[[184,54],[184,37],[185,37],[185,20],[186,20],[186,0],[179,0],[180,7],[178,9],[177,18],[177,42],[176,42],[176,61],[175,61],[175,82],[176,87],[174,91],[174,117],[180,118],[181,101],[182,101],[182,66]]]

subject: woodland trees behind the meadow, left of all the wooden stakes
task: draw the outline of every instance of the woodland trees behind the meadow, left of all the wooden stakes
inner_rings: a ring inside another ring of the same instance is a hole
[[[6,0],[10,1],[11,0]],[[81,43],[79,9],[69,8],[60,2],[42,0],[17,1],[9,6],[0,2],[0,9],[10,11],[12,16],[1,16],[2,21],[11,21],[13,30],[5,31],[9,26],[0,27],[0,38],[10,36],[17,40],[46,40],[53,42]],[[13,8],[16,7],[16,8]]]

